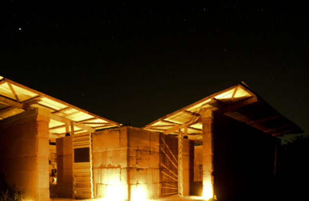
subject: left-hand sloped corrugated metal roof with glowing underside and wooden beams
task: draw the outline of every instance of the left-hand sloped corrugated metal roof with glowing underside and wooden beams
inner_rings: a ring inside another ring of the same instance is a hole
[[[23,86],[0,76],[0,119],[24,112],[29,108],[51,111],[50,133],[66,133],[66,124],[74,124],[75,133],[119,127],[120,123],[94,115],[64,101]]]

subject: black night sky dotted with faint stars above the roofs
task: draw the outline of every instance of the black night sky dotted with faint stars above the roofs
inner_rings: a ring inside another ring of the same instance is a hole
[[[305,5],[0,4],[0,75],[89,112],[142,127],[244,81],[309,129]]]

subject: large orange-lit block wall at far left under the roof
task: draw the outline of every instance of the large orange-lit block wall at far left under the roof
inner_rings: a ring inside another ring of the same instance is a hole
[[[50,200],[49,114],[33,109],[0,120],[0,173],[26,201]]]

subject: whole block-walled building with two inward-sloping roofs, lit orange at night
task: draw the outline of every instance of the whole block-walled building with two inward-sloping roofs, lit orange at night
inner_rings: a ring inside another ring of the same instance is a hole
[[[244,83],[134,128],[0,77],[0,119],[2,180],[36,201],[242,199],[271,188],[276,136],[303,132]]]

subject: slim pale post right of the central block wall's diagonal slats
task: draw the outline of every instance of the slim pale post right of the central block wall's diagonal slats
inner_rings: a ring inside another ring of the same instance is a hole
[[[178,195],[183,196],[183,162],[182,162],[182,132],[178,130]]]

